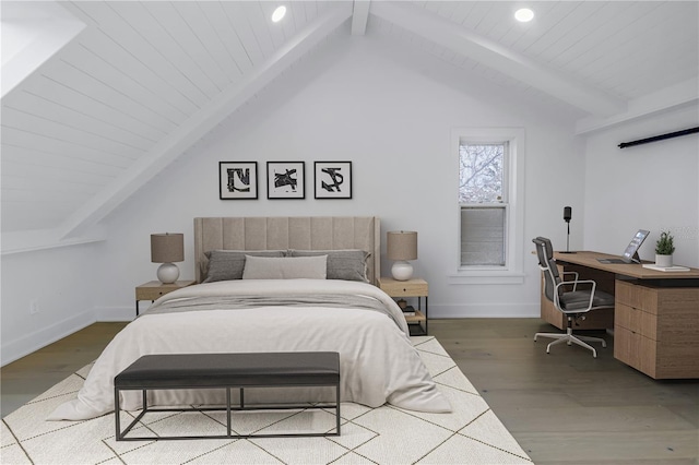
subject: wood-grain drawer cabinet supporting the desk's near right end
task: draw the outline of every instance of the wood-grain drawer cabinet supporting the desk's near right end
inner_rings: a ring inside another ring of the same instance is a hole
[[[617,279],[614,357],[654,379],[699,378],[699,288]]]

